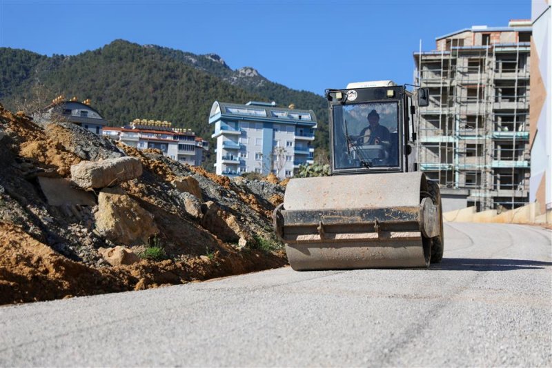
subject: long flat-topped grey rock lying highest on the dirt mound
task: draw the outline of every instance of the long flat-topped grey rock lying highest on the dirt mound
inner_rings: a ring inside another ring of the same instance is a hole
[[[71,180],[82,188],[103,188],[141,176],[142,164],[136,157],[103,161],[81,161],[71,165]]]

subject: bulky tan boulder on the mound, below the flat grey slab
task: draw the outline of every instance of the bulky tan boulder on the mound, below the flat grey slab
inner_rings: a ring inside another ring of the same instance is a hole
[[[120,187],[101,190],[94,216],[97,232],[115,244],[140,245],[159,233],[152,214]]]

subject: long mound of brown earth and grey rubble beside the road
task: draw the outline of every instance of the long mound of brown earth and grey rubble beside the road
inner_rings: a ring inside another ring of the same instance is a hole
[[[286,264],[270,221],[283,196],[281,185],[237,183],[159,150],[137,150],[77,125],[12,114],[1,105],[0,140],[0,304],[173,285]],[[127,155],[140,159],[143,174],[117,189],[134,204],[114,205],[135,216],[138,225],[147,217],[141,213],[150,214],[154,241],[99,231],[101,188],[72,187],[72,196],[52,193],[52,181],[70,185],[71,165]],[[195,195],[175,186],[176,179],[193,183]],[[79,202],[82,198],[89,199]],[[99,249],[115,246],[143,259],[111,266]]]

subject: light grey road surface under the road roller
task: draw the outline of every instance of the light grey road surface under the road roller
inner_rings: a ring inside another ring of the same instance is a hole
[[[0,366],[551,366],[552,232],[445,225],[430,269],[289,267],[0,308]]]

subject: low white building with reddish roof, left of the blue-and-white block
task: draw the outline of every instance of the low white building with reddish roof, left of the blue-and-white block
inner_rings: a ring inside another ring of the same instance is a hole
[[[124,127],[104,127],[103,135],[141,150],[157,148],[173,160],[195,166],[203,163],[204,151],[209,150],[207,141],[168,121],[135,119]]]

